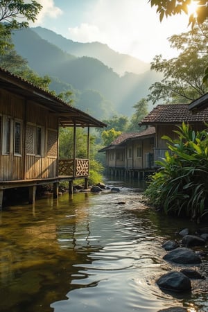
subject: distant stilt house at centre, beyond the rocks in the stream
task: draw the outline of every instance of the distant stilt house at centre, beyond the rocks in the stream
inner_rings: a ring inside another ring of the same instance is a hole
[[[109,146],[99,152],[105,152],[107,175],[138,177],[155,171],[153,149],[155,146],[155,128],[148,127],[141,132],[122,133]]]

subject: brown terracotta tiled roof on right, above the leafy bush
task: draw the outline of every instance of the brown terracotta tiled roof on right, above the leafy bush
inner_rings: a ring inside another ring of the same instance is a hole
[[[205,110],[192,112],[189,104],[164,104],[157,105],[141,121],[141,124],[154,125],[156,123],[196,123],[208,121],[208,107]]]

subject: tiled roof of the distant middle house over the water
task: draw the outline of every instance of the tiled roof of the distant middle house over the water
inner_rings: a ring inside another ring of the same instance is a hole
[[[114,148],[115,146],[119,146],[120,144],[123,144],[128,139],[137,139],[137,138],[143,138],[148,137],[150,135],[155,135],[155,127],[148,127],[146,130],[143,130],[141,132],[129,132],[125,133],[123,132],[119,137],[116,137],[114,141],[109,146],[106,146],[105,148],[102,148],[99,150],[99,152],[104,152],[105,150]]]

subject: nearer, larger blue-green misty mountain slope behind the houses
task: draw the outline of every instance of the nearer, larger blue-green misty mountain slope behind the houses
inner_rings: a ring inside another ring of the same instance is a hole
[[[31,69],[52,78],[51,89],[57,93],[71,90],[75,106],[98,119],[115,113],[131,116],[132,106],[146,97],[152,83],[160,80],[152,71],[119,76],[100,60],[64,52],[32,28],[15,31],[12,41]]]

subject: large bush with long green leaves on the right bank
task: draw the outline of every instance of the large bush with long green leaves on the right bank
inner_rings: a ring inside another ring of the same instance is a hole
[[[208,134],[185,123],[178,128],[178,139],[162,137],[170,151],[157,162],[161,168],[150,177],[145,196],[166,214],[198,219],[207,213]]]

